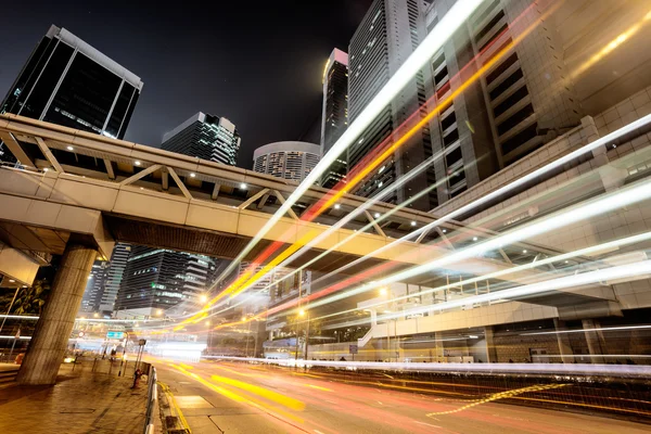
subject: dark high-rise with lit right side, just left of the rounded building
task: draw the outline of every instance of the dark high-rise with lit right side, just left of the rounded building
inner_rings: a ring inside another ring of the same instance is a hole
[[[161,148],[234,166],[238,163],[240,135],[226,117],[199,112],[165,133]]]

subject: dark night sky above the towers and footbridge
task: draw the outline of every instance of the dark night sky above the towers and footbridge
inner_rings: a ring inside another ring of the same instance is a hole
[[[0,100],[51,24],[144,81],[126,140],[159,146],[202,111],[242,136],[239,166],[280,140],[318,140],[321,77],[371,0],[20,1],[0,14]],[[318,142],[318,141],[317,141]]]

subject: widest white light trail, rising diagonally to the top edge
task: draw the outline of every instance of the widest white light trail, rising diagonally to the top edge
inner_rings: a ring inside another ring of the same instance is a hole
[[[384,107],[392,103],[398,92],[413,79],[416,74],[432,59],[445,41],[465,23],[470,15],[478,8],[483,0],[464,0],[457,2],[441,18],[438,24],[425,37],[423,42],[411,53],[398,71],[391,77],[388,82],[380,92],[367,104],[366,108],[352,123],[340,139],[332,145],[330,151],[321,157],[321,161],[301,182],[294,192],[285,200],[278,210],[267,220],[265,226],[255,234],[255,237],[240,252],[226,270],[221,272],[216,282],[221,281],[229,276],[237,264],[253,250],[253,247],[265,237],[265,234],[284,216],[292,205],[298,201],[305,192],[315,184],[321,175],[334,163],[334,161],[361,136],[366,128],[382,113]]]

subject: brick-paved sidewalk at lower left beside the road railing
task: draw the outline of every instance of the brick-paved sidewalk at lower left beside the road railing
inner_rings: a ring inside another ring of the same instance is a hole
[[[54,386],[0,390],[0,433],[141,434],[146,382],[132,390],[130,375],[90,372],[88,365],[62,365]]]

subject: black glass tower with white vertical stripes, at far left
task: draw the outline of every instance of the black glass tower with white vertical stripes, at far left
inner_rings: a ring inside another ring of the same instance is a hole
[[[142,86],[140,77],[124,66],[65,28],[51,26],[10,88],[0,113],[122,139]],[[15,159],[7,154],[3,159]]]

